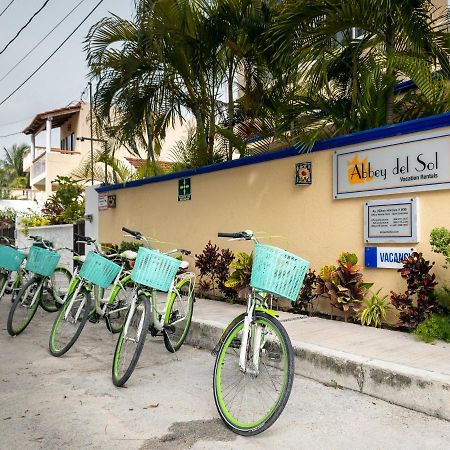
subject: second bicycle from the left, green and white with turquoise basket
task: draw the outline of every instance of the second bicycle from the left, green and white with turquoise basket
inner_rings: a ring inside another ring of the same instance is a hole
[[[23,282],[30,274],[20,291],[15,296],[9,311],[7,330],[11,336],[21,334],[30,324],[38,306],[46,312],[58,310],[65,294],[65,286],[72,274],[65,267],[57,267],[61,255],[53,249],[53,243],[39,236],[30,236],[34,243],[26,254],[25,271],[18,277]],[[57,250],[68,250],[62,247]]]

